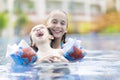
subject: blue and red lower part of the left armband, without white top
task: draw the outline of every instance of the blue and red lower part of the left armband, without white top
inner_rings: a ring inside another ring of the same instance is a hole
[[[37,60],[36,53],[31,52],[30,48],[19,48],[19,50],[10,55],[15,64],[28,65]]]

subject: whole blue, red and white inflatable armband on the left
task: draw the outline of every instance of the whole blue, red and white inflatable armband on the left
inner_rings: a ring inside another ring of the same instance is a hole
[[[6,57],[10,57],[17,65],[29,65],[37,60],[36,52],[24,40],[18,45],[8,45]]]

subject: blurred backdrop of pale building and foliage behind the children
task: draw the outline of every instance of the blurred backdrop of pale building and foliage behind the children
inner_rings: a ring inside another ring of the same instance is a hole
[[[0,0],[0,34],[28,35],[54,9],[68,13],[68,33],[120,32],[120,0]]]

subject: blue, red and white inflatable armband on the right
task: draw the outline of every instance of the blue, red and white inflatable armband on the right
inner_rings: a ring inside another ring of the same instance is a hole
[[[80,41],[71,38],[63,45],[63,51],[64,57],[71,62],[80,61],[86,54],[84,49],[80,46]]]

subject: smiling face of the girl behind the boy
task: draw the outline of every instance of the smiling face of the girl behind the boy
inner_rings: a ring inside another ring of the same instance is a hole
[[[47,27],[51,30],[55,38],[62,38],[67,32],[67,16],[63,12],[53,12],[50,14]]]

